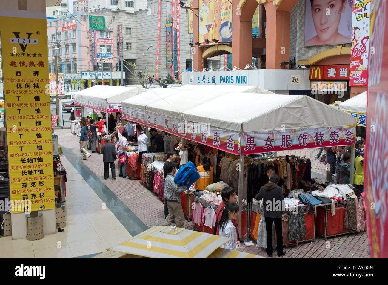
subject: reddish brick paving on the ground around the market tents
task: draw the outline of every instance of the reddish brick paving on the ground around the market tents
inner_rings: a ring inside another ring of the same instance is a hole
[[[69,129],[56,130],[59,144],[71,149],[80,158],[83,157],[80,153],[79,138],[70,133]],[[278,155],[305,155],[311,158],[312,170],[324,172],[324,163],[319,162],[314,156],[319,149],[305,149],[291,152],[279,152]],[[158,198],[156,193],[153,193],[139,180],[131,180],[129,178],[119,177],[118,163],[116,162],[116,180],[112,180],[109,174],[109,179],[104,180],[104,165],[102,163],[102,155],[93,153],[88,160],[82,160],[85,165],[92,170],[96,176],[113,191],[113,193],[139,217],[148,227],[162,225],[164,221],[164,205],[163,201]],[[110,171],[110,170],[109,170]],[[87,178],[87,177],[86,177]],[[87,180],[87,179],[85,179]],[[193,223],[185,221],[185,228],[193,229]],[[251,254],[262,255],[267,257],[265,249],[258,249],[255,246],[247,247],[243,243],[241,251]],[[316,235],[315,242],[299,243],[289,245],[286,250],[286,255],[281,258],[370,258],[369,242],[367,231],[361,233],[351,233],[346,235],[329,238],[327,241],[324,238]],[[273,258],[279,258],[274,251]]]

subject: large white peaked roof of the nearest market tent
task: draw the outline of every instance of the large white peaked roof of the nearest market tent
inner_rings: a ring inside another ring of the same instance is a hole
[[[356,124],[353,116],[306,95],[274,97],[235,92],[187,109],[183,112],[183,119],[237,132],[241,131],[241,124],[243,132]]]

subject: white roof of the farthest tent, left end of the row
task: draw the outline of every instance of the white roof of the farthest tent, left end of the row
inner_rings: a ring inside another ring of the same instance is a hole
[[[74,93],[75,98],[107,103],[121,103],[123,100],[145,92],[146,89],[136,86],[95,85]]]

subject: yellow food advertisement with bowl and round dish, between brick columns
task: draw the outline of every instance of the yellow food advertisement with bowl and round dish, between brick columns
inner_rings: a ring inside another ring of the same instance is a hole
[[[205,38],[231,42],[232,14],[232,3],[228,0],[200,0],[199,42],[204,42]]]

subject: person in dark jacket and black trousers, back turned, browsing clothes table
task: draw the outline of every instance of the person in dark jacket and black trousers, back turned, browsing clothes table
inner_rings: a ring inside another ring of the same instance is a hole
[[[255,199],[262,200],[264,206],[265,229],[267,230],[267,254],[272,256],[272,223],[275,223],[277,256],[286,254],[283,251],[282,214],[284,210],[284,197],[282,188],[277,186],[279,175],[276,173],[269,177],[269,182],[260,188]]]

